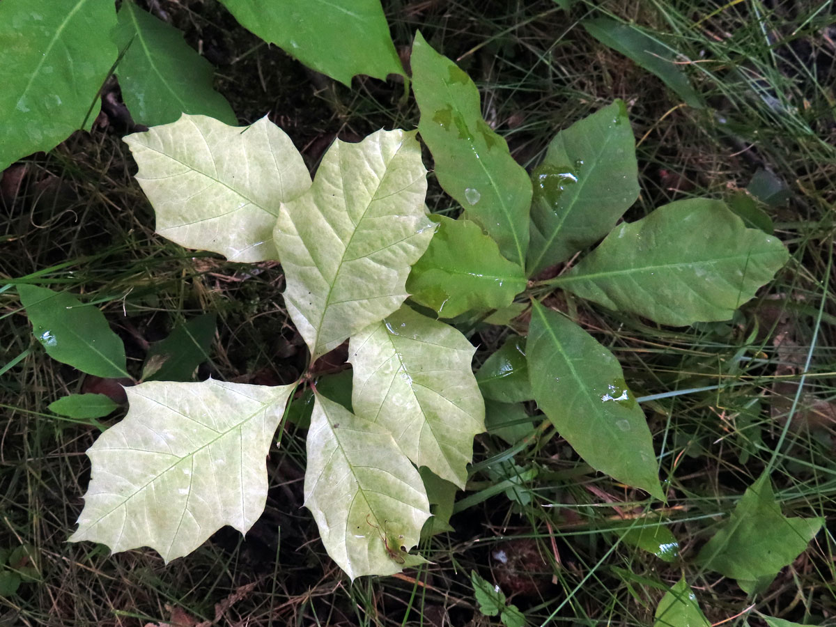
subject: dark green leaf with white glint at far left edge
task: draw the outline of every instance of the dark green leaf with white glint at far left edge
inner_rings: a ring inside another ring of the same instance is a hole
[[[98,308],[66,292],[37,285],[17,287],[33,334],[50,357],[88,375],[130,376],[125,370],[125,345]]]

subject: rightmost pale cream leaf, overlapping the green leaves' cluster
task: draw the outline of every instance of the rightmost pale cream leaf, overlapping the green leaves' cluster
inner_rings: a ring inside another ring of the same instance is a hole
[[[453,327],[400,308],[352,336],[354,413],[385,426],[416,466],[463,488],[485,403],[476,348]]]

